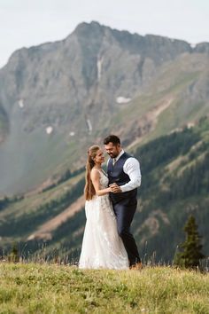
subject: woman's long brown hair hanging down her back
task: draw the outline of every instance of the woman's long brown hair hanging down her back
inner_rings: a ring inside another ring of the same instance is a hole
[[[92,200],[93,196],[96,194],[94,185],[90,179],[90,171],[95,166],[95,157],[97,155],[97,151],[100,149],[98,145],[93,145],[89,147],[88,157],[86,163],[86,184],[84,188],[84,197],[86,200]]]

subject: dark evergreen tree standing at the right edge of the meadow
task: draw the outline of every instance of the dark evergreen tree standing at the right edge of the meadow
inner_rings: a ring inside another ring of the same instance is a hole
[[[190,216],[183,228],[186,232],[186,240],[180,245],[180,252],[174,257],[174,264],[185,268],[196,268],[205,255],[202,254],[200,236],[197,232],[197,224],[194,216]]]

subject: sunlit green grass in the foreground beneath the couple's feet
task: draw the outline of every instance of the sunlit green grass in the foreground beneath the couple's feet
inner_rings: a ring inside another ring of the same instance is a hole
[[[0,263],[0,313],[209,313],[209,276]]]

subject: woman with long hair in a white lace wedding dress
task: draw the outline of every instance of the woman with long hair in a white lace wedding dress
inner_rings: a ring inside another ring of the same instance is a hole
[[[117,232],[109,199],[111,187],[102,169],[104,153],[97,145],[89,148],[86,165],[86,226],[82,240],[79,268],[128,269],[128,255]]]

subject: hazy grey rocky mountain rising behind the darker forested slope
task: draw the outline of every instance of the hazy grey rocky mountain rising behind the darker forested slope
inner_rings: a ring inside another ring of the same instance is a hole
[[[0,195],[80,169],[110,132],[135,147],[196,123],[208,113],[208,51],[97,22],[15,51],[0,70]]]

